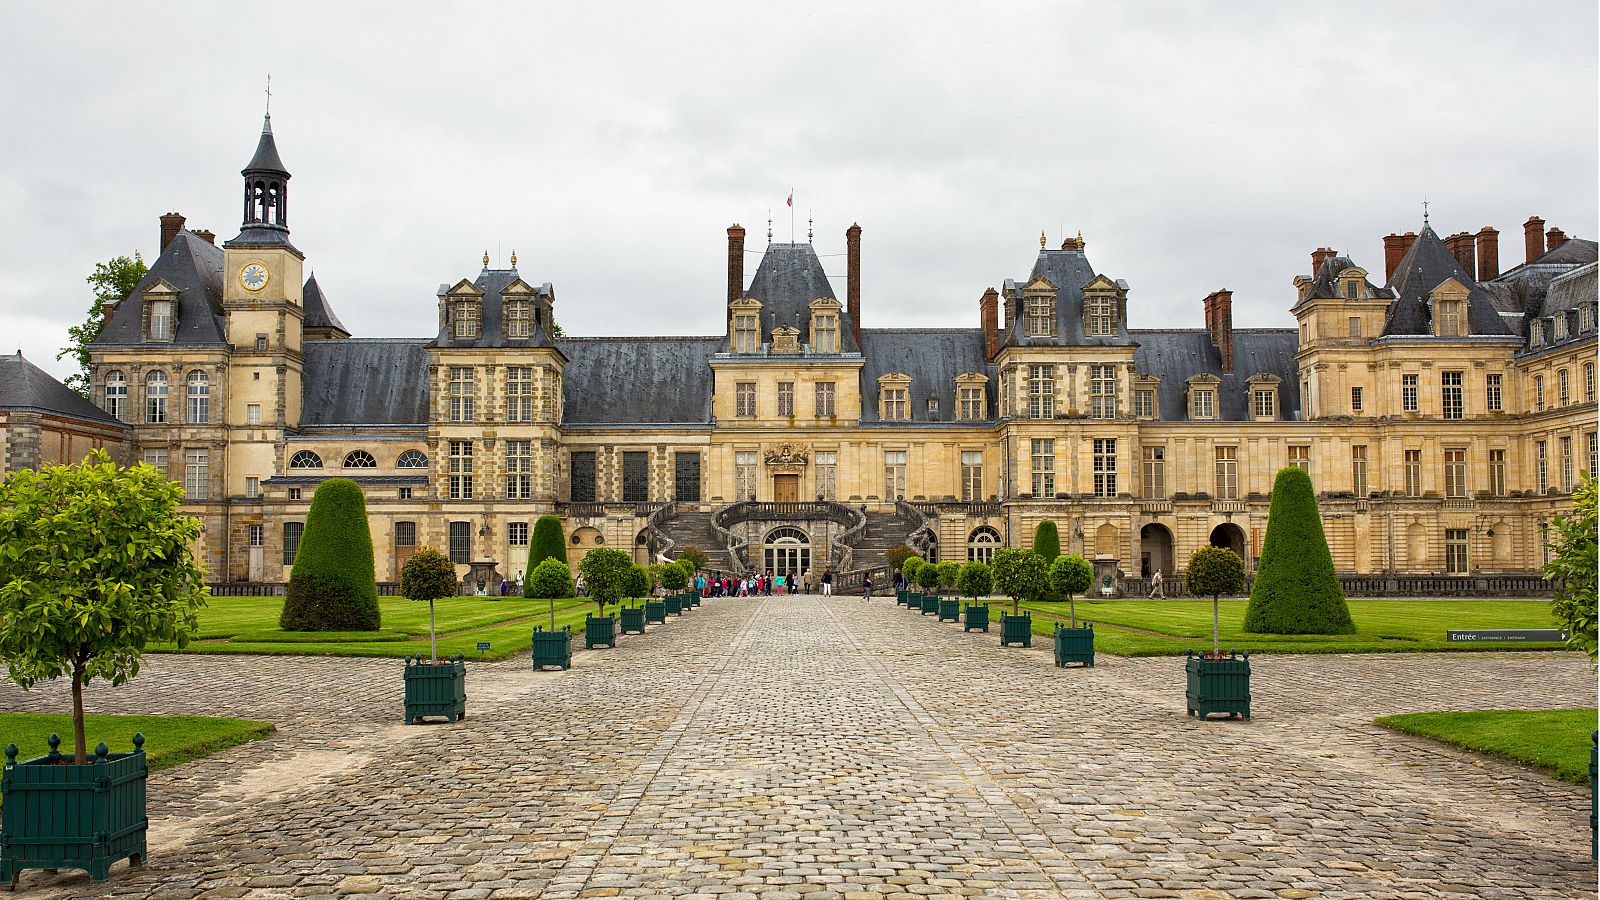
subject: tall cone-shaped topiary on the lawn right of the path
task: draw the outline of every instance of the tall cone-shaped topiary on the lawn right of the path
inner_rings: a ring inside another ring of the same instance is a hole
[[[1278,469],[1272,482],[1267,536],[1250,588],[1245,631],[1355,634],[1328,538],[1322,533],[1310,476],[1298,466]]]

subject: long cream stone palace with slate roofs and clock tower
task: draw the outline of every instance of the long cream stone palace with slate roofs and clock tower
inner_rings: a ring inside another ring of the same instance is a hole
[[[1227,290],[1197,290],[1200,328],[1134,327],[1082,237],[974,290],[971,328],[867,328],[859,226],[843,299],[810,240],[768,240],[747,279],[733,226],[718,335],[557,336],[555,288],[485,255],[413,307],[418,336],[363,338],[306,277],[288,187],[269,119],[237,237],[162,216],[93,344],[104,416],[77,410],[184,484],[218,581],[283,580],[338,476],[379,580],[422,544],[515,577],[542,514],[579,554],[696,544],[846,585],[902,541],[987,559],[1054,519],[1139,589],[1208,543],[1253,565],[1283,466],[1341,572],[1510,577],[1595,469],[1597,245],[1538,218],[1507,271],[1488,227],[1392,234],[1381,271],[1317,250],[1296,328],[1235,328]]]

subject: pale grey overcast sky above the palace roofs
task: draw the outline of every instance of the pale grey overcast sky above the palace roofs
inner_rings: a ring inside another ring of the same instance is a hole
[[[294,243],[357,336],[432,333],[485,248],[568,333],[717,333],[723,229],[789,240],[790,189],[840,296],[861,223],[867,327],[976,325],[1042,229],[1082,229],[1134,327],[1222,287],[1291,325],[1312,248],[1381,274],[1424,199],[1506,267],[1530,215],[1600,234],[1592,2],[454,6],[10,8],[6,349],[69,372],[85,275],[150,261],[162,213],[237,234],[267,72]]]

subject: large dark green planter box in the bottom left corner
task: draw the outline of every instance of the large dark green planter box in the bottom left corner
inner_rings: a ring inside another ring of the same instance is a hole
[[[50,735],[50,753],[22,762],[14,743],[5,748],[0,886],[14,886],[27,868],[80,868],[106,881],[117,860],[144,863],[144,735],[133,735],[133,753],[96,746],[86,765],[59,748]]]

